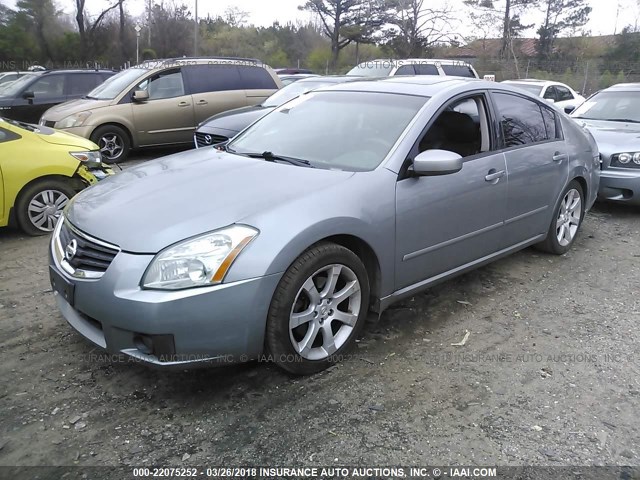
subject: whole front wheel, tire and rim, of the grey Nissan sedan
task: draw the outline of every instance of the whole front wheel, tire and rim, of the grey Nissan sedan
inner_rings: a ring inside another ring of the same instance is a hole
[[[357,255],[320,243],[293,262],[276,288],[266,346],[288,372],[324,370],[351,346],[365,322],[369,278]]]

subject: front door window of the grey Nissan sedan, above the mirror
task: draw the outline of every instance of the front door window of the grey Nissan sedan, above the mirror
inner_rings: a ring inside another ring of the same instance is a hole
[[[489,124],[482,95],[447,105],[418,142],[418,153],[448,150],[463,158],[490,149]]]

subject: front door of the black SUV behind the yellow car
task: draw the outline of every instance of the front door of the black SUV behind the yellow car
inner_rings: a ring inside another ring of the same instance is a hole
[[[25,98],[27,92],[33,93],[33,98]],[[22,122],[38,123],[44,112],[66,100],[64,73],[41,75],[16,96],[11,109],[11,118]]]

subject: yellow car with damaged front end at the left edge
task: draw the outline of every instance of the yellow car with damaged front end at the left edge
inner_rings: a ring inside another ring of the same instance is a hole
[[[95,143],[0,117],[0,227],[52,232],[71,197],[112,174]]]

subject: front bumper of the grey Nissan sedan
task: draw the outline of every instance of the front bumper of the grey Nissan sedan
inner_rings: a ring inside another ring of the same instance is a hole
[[[153,255],[120,251],[100,278],[83,279],[62,268],[56,241],[54,235],[52,279],[72,285],[72,298],[55,293],[58,307],[72,327],[108,353],[160,367],[223,365],[262,353],[281,274],[180,291],[144,290],[140,279]]]

